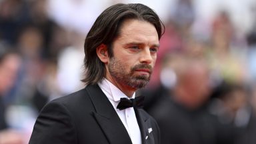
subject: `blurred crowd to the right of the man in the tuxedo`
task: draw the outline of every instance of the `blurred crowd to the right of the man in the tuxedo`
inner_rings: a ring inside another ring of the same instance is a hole
[[[246,33],[226,9],[206,26],[195,23],[193,1],[177,1],[175,8],[165,23],[155,77],[141,91],[162,143],[256,143],[255,5],[248,7],[253,26]]]

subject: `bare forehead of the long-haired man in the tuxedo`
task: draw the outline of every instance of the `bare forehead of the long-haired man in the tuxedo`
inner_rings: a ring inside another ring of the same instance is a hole
[[[147,21],[137,19],[127,19],[120,28],[119,40],[126,41],[147,41],[151,43],[159,43],[159,37],[154,25]]]

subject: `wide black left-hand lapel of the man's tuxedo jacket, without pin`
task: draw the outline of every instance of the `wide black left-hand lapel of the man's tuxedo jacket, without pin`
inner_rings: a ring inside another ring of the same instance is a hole
[[[89,93],[89,97],[91,97],[91,101],[95,107],[95,112],[93,111],[93,115],[105,133],[109,143],[132,144],[125,126],[117,115],[115,109],[113,109],[109,99],[107,99],[99,86],[88,85],[86,90]]]

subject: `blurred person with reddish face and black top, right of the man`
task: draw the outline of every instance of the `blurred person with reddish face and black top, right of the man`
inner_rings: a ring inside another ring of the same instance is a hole
[[[149,111],[159,123],[161,142],[216,143],[213,117],[205,107],[211,92],[207,64],[184,55],[175,59],[168,56],[164,69],[174,74],[175,83]]]

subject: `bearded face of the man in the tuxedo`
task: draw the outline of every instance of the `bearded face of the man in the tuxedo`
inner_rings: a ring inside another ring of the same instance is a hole
[[[113,41],[113,57],[107,63],[107,79],[121,90],[145,87],[157,59],[159,39],[155,27],[146,21],[124,21]]]

